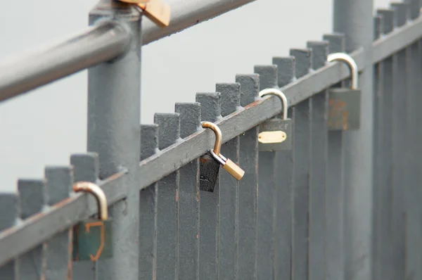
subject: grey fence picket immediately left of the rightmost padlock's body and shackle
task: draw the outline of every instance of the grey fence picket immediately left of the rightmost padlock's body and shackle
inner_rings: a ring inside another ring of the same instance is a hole
[[[312,50],[312,68],[326,65],[328,42],[307,42]],[[311,155],[309,170],[309,280],[326,275],[326,177],[328,161],[328,91],[310,99]],[[329,242],[329,240],[328,240]]]

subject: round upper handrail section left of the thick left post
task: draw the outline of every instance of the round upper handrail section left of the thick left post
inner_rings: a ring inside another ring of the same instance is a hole
[[[106,21],[45,51],[0,66],[0,101],[69,76],[127,50],[129,32]]]

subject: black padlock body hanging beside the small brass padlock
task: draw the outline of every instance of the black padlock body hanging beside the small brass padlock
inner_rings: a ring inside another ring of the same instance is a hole
[[[220,164],[210,153],[200,157],[199,189],[213,192],[218,179]]]

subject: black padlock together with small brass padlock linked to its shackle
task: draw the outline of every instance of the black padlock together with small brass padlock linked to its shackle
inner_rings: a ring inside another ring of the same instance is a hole
[[[212,122],[201,122],[203,128],[210,128],[215,133],[214,148],[200,158],[200,190],[213,192],[219,174],[219,166],[240,181],[245,172],[229,158],[220,153],[222,131]]]

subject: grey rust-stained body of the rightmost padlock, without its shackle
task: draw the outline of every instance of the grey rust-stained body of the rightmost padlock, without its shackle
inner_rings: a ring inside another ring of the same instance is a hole
[[[361,91],[333,88],[328,90],[329,130],[355,130],[360,127]]]

